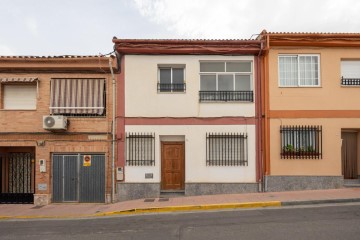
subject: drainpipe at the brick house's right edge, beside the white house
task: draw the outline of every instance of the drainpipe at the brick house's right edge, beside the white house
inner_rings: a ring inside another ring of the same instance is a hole
[[[111,202],[115,202],[115,144],[116,144],[116,138],[115,138],[115,110],[116,110],[116,81],[114,76],[114,71],[112,69],[112,59],[111,56],[109,58],[109,67],[111,72],[111,79],[112,79],[112,129],[111,129],[111,135],[112,135],[112,141],[111,141]]]

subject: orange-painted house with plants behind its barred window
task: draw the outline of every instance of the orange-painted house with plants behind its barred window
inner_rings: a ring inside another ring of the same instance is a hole
[[[267,191],[341,188],[360,175],[360,34],[268,33]]]

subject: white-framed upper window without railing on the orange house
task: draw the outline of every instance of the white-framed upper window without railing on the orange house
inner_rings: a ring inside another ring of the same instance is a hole
[[[320,86],[319,55],[280,55],[280,87]]]

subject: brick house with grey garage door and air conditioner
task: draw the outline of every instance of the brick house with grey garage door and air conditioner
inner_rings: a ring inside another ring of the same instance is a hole
[[[0,57],[1,203],[111,200],[109,59]]]

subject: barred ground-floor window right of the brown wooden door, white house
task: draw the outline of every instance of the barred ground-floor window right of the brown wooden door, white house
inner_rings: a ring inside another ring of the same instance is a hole
[[[206,165],[247,166],[247,134],[207,133]]]

